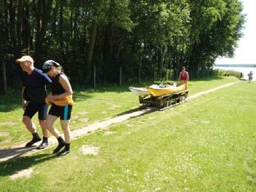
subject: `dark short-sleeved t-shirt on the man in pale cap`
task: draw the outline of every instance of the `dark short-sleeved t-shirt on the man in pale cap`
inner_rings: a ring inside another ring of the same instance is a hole
[[[42,70],[35,68],[30,75],[24,73],[22,76],[23,98],[28,102],[45,103],[47,96],[45,85],[50,84],[50,82],[50,78],[42,73]]]

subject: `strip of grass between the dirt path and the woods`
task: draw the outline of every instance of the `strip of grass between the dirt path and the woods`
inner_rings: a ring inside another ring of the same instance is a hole
[[[218,76],[193,80],[188,84],[189,94],[209,90],[234,81],[237,81],[234,77],[224,78]],[[150,83],[145,85],[150,85]],[[75,105],[73,106],[70,129],[81,128],[102,119],[136,110],[139,106],[139,99],[128,90],[128,86],[75,90]],[[0,133],[2,133],[0,134],[0,147],[7,147],[15,142],[30,140],[31,136],[22,124],[23,110],[21,103],[20,93],[0,96]],[[42,135],[37,115],[33,119],[40,135]],[[61,130],[59,122],[56,122],[56,128]]]

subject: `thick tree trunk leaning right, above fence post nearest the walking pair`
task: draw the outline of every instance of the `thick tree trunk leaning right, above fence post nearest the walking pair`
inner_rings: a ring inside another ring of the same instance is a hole
[[[96,32],[97,32],[97,22],[93,21],[93,25],[91,27],[91,37],[88,44],[86,82],[91,81],[91,62],[93,59],[93,49],[95,46]]]

